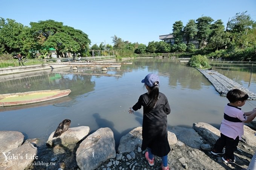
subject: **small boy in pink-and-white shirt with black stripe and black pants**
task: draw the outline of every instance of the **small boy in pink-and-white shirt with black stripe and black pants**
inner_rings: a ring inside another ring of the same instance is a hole
[[[243,112],[241,108],[248,95],[239,89],[229,90],[227,93],[228,103],[224,108],[224,119],[221,122],[219,131],[221,137],[214,144],[211,153],[213,155],[224,154],[223,148],[226,147],[223,162],[235,162],[234,151],[237,149],[239,140],[244,134],[244,123],[251,122],[256,116],[256,109],[253,111]]]

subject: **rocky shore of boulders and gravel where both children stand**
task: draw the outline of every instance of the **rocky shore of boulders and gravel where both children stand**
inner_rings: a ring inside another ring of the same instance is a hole
[[[236,162],[226,164],[221,155],[210,153],[218,139],[218,129],[207,123],[194,123],[192,128],[174,126],[168,130],[171,170],[225,170],[247,168],[256,150],[256,122],[244,126],[244,135],[235,151]],[[137,127],[120,139],[115,149],[110,128],[100,128],[90,134],[88,126],[69,128],[60,137],[49,136],[46,144],[37,146],[37,139],[24,141],[17,131],[0,131],[1,170],[157,170],[161,158],[149,166],[142,151],[142,127]]]

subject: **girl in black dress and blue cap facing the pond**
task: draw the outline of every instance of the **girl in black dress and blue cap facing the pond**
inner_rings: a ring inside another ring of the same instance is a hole
[[[138,102],[129,110],[129,113],[143,106],[142,123],[142,150],[150,166],[154,165],[154,155],[162,158],[161,167],[169,170],[168,153],[171,151],[168,142],[167,115],[171,108],[166,96],[159,92],[159,78],[155,74],[148,74],[142,81],[148,90],[140,95]]]

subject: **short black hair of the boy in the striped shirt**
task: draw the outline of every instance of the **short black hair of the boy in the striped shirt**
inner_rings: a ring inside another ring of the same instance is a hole
[[[248,99],[248,95],[247,93],[243,92],[242,90],[239,89],[233,89],[233,90],[229,90],[229,92],[227,92],[227,99],[229,100],[229,102],[234,103],[236,101],[245,101]]]

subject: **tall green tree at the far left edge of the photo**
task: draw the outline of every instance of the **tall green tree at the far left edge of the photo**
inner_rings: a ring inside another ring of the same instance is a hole
[[[8,53],[20,53],[23,48],[21,34],[24,26],[15,20],[1,17],[0,21],[0,44]]]

